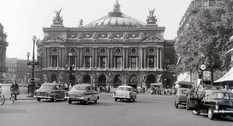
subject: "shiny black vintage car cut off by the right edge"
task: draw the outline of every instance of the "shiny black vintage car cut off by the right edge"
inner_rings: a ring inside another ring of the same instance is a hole
[[[211,120],[227,115],[233,117],[233,93],[227,90],[207,89],[201,93],[199,100],[189,102],[189,106],[192,106],[194,115],[207,113]]]

